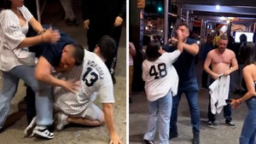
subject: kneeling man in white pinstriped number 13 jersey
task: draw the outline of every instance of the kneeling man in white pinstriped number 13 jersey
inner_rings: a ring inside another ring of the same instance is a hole
[[[115,49],[113,38],[103,36],[94,53],[84,50],[84,62],[81,66],[73,67],[72,70],[57,76],[80,83],[77,94],[60,87],[54,89],[57,130],[62,130],[69,123],[99,126],[104,124],[106,119],[110,143],[121,143],[113,124],[113,82],[104,63],[113,57]],[[102,110],[93,103],[96,96],[102,103]]]

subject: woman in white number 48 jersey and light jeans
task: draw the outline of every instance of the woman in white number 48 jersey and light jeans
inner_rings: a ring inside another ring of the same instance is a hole
[[[148,128],[143,137],[147,144],[153,143],[159,126],[160,144],[169,144],[169,127],[172,113],[172,95],[177,95],[178,76],[172,63],[183,51],[166,53],[160,42],[151,41],[146,49],[147,60],[143,61],[143,80],[148,99]],[[170,84],[171,83],[171,84]]]

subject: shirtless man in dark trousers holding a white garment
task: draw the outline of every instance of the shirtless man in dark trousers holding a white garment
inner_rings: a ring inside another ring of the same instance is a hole
[[[232,50],[226,49],[227,45],[228,37],[222,35],[218,40],[218,48],[212,49],[207,55],[204,70],[211,75],[213,80],[218,79],[222,74],[227,77],[231,72],[235,72],[238,69],[236,55]],[[212,69],[209,68],[210,65],[212,66]],[[211,100],[211,96],[209,100]],[[211,112],[211,101],[209,101],[207,126],[213,127],[213,125],[215,125],[214,116],[215,115]],[[224,118],[226,118],[225,123],[227,125],[232,128],[236,127],[236,124],[233,124],[232,122],[230,104],[224,106]]]

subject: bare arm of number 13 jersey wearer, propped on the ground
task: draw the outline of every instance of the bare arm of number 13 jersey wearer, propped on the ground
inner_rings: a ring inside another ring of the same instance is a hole
[[[122,141],[119,138],[116,130],[114,129],[113,124],[113,107],[111,103],[102,103],[103,113],[105,117],[105,122],[108,127],[108,132],[110,135],[110,142],[109,144],[122,144]]]

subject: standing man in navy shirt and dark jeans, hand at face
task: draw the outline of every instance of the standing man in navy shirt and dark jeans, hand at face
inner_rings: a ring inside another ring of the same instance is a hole
[[[183,53],[173,63],[179,78],[177,95],[172,98],[172,115],[170,121],[169,139],[177,137],[177,107],[183,93],[189,102],[191,124],[193,126],[193,144],[200,143],[200,111],[198,107],[198,85],[195,78],[195,55],[199,52],[199,46],[194,39],[189,38],[189,26],[180,24],[177,26],[177,38],[172,37],[173,46],[166,44],[165,49],[172,52],[178,46],[183,47]]]

